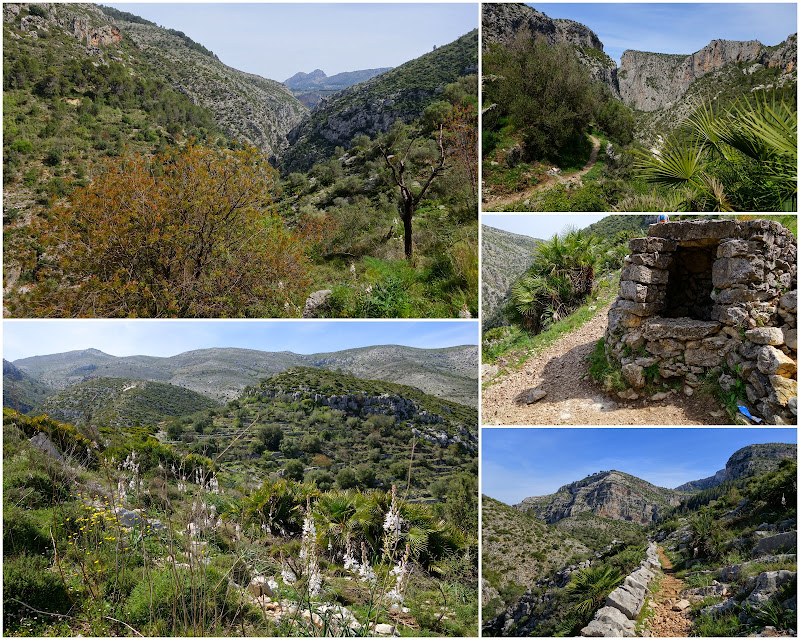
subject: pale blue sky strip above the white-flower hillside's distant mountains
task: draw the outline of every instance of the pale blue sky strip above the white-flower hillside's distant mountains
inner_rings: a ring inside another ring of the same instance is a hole
[[[4,320],[3,357],[95,348],[114,356],[173,356],[240,347],[322,353],[399,344],[438,349],[478,344],[478,322],[385,320]]]

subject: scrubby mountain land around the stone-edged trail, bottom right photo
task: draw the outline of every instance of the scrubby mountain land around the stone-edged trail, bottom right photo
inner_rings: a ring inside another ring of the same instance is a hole
[[[484,497],[484,634],[791,635],[797,447],[747,446],[726,469],[700,491],[649,485],[631,505],[638,518],[620,511],[620,494],[608,490],[586,495],[603,515],[564,511],[551,524],[525,510],[528,501],[512,508]],[[601,472],[568,487],[591,487],[600,476],[623,491],[648,484]],[[658,494],[676,500],[664,506]],[[506,567],[509,557],[517,561]]]

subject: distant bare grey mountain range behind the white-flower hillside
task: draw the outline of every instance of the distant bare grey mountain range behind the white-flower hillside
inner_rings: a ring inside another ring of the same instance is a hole
[[[26,391],[22,404],[31,407],[49,393],[95,378],[123,378],[168,383],[216,401],[237,398],[245,387],[295,366],[342,369],[360,378],[413,386],[460,404],[477,406],[478,347],[414,349],[383,345],[331,353],[301,355],[290,351],[214,348],[188,351],[169,358],[117,357],[97,349],[70,351],[4,362],[4,406],[20,405],[10,389]],[[33,382],[27,382],[33,381]],[[36,383],[37,386],[33,386]],[[27,387],[25,387],[27,389]],[[20,410],[22,406],[20,405]]]

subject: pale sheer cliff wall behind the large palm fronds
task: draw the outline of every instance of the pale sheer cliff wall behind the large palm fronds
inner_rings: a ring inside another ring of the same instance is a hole
[[[729,64],[778,67],[791,73],[797,67],[797,34],[777,47],[765,47],[758,40],[712,40],[691,55],[670,55],[625,51],[617,72],[619,93],[629,107],[656,111],[671,107],[693,82]]]

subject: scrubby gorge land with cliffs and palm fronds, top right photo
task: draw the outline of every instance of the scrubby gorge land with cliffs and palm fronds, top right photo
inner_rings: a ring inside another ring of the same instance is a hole
[[[691,19],[676,11],[664,30]],[[485,209],[797,208],[796,22],[779,43],[716,37],[617,66],[591,24],[517,3],[482,21]]]

